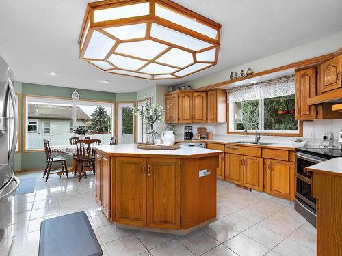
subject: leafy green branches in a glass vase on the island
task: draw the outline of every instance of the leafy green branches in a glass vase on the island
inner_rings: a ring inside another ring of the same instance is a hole
[[[142,109],[144,111],[142,111]],[[165,108],[159,103],[151,104],[148,99],[145,99],[142,109],[139,109],[138,106],[134,106],[133,113],[139,115],[142,120],[147,123],[150,128],[147,136],[147,143],[155,145],[155,139],[157,139],[158,132],[154,130],[153,126],[155,122],[163,120]]]

